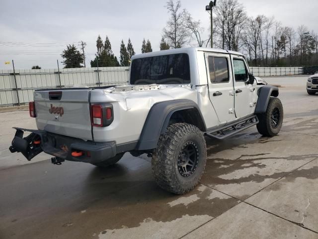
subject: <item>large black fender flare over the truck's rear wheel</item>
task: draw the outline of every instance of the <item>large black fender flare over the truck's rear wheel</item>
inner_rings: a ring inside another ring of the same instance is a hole
[[[163,101],[153,105],[145,121],[137,150],[149,150],[157,147],[159,137],[166,131],[173,113],[182,110],[194,109],[199,113],[206,131],[205,121],[198,105],[191,100]],[[198,119],[200,120],[200,119]]]

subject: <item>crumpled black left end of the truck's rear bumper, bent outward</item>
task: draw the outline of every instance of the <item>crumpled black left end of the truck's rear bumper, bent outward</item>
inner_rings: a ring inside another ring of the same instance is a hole
[[[9,150],[11,153],[21,152],[28,161],[33,157],[41,153],[41,136],[34,132],[23,138],[24,131],[22,129],[15,128],[16,132],[11,142]],[[40,142],[40,143],[35,143]]]

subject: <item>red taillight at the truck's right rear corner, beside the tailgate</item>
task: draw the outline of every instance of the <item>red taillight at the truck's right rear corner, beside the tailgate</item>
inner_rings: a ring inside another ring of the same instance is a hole
[[[91,125],[96,127],[106,127],[110,125],[114,119],[113,106],[92,105],[90,108]]]

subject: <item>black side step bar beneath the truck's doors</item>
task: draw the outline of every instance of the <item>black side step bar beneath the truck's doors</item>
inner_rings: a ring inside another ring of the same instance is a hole
[[[225,139],[232,135],[243,131],[246,128],[258,124],[257,116],[250,116],[243,120],[239,120],[230,124],[227,124],[221,128],[215,128],[211,131],[206,132],[206,135],[211,138]]]

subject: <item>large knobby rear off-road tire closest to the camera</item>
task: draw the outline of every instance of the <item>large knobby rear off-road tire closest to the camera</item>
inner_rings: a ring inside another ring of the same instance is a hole
[[[189,144],[195,149],[196,166],[190,176],[185,177],[179,171],[182,170],[180,158]],[[199,183],[206,160],[207,148],[203,132],[192,124],[173,123],[160,135],[158,147],[153,153],[152,171],[159,187],[174,194],[185,194]]]

